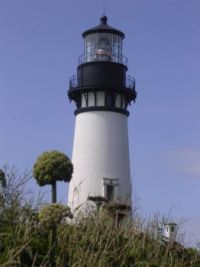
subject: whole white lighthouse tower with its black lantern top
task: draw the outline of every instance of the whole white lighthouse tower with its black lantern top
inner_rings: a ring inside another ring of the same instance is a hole
[[[68,204],[74,211],[89,197],[102,196],[131,206],[128,107],[136,91],[135,79],[126,74],[125,35],[103,16],[82,37],[84,52],[68,90],[76,105]]]

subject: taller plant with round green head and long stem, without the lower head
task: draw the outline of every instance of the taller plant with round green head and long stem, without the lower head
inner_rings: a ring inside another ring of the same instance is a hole
[[[69,182],[73,173],[70,159],[63,153],[53,150],[44,152],[33,166],[33,175],[40,186],[52,186],[52,203],[56,203],[56,181]],[[50,266],[55,266],[55,249],[57,243],[57,227],[52,225]]]

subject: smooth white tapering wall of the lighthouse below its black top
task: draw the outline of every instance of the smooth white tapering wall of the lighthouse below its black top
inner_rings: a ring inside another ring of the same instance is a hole
[[[88,196],[106,197],[114,185],[114,199],[131,205],[131,177],[127,116],[111,111],[90,111],[76,116],[72,162],[74,173],[68,204],[72,210]]]

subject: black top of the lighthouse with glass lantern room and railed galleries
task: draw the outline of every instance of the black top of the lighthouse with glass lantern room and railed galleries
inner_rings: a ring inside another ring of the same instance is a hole
[[[75,114],[108,110],[128,115],[128,104],[136,99],[135,80],[128,76],[127,58],[122,54],[123,32],[110,27],[107,17],[86,30],[84,54],[79,57],[77,75],[70,79],[68,96],[77,105]]]

